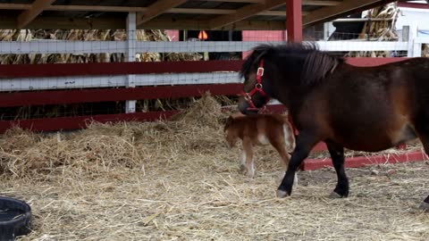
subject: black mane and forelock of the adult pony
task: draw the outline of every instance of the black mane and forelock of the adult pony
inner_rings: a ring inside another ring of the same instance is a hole
[[[304,85],[312,85],[321,79],[324,79],[328,72],[333,71],[335,67],[344,62],[341,57],[332,56],[318,50],[315,44],[288,43],[284,45],[259,45],[252,49],[252,54],[248,55],[241,66],[240,78],[245,77],[251,71],[256,71],[257,64],[262,57],[270,58],[274,54],[277,56],[302,55],[305,62],[302,66],[300,81]]]

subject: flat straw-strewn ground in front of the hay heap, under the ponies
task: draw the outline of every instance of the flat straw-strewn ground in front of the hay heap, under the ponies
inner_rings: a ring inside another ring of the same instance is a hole
[[[33,209],[35,230],[22,240],[423,241],[429,214],[416,207],[428,195],[428,164],[349,169],[351,193],[341,200],[327,198],[332,170],[299,172],[293,195],[277,199],[277,165],[258,162],[249,180],[237,162],[205,156],[81,179],[6,180],[0,189]]]

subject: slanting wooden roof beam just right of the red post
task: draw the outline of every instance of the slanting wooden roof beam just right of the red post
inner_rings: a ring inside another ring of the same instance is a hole
[[[320,9],[317,9],[311,14],[304,16],[302,20],[303,27],[309,25],[324,22],[332,21],[341,16],[351,14],[353,12],[361,12],[367,9],[374,8],[380,4],[389,4],[395,2],[394,0],[348,0],[343,1],[341,4],[335,6],[326,6]]]

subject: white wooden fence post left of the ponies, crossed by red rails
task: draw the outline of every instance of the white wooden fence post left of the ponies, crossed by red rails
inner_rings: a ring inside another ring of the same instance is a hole
[[[129,12],[127,18],[127,62],[136,62],[136,41],[137,41],[137,21],[136,12]],[[135,75],[129,74],[127,77],[126,87],[136,87],[134,81]],[[125,112],[136,112],[136,101],[128,100],[125,102]]]

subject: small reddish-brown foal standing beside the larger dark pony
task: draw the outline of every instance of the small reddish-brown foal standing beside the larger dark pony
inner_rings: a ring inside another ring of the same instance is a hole
[[[287,116],[281,114],[258,114],[251,116],[230,116],[224,127],[226,141],[233,147],[239,138],[243,150],[241,152],[241,169],[247,170],[248,178],[255,176],[253,161],[254,145],[273,145],[282,158],[283,178],[290,161],[290,154],[295,147],[295,137]],[[297,182],[295,175],[294,182]]]

